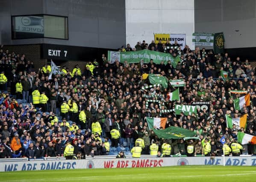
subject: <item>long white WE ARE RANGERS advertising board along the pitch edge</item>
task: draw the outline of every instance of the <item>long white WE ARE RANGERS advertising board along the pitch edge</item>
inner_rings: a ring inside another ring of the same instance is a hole
[[[223,157],[170,157],[0,162],[0,171],[92,168],[151,168],[177,165],[223,165]],[[256,157],[226,157],[225,165],[256,166]]]

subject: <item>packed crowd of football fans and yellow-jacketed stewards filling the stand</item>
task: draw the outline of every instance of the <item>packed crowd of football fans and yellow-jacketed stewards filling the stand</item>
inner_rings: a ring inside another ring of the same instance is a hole
[[[219,155],[222,136],[228,144],[237,139],[238,130],[227,128],[226,113],[247,114],[247,127],[239,131],[255,136],[256,70],[248,60],[239,57],[232,60],[227,53],[215,55],[198,47],[192,51],[185,46],[182,50],[177,42],[171,45],[152,41],[148,45],[143,41],[133,49],[128,44],[119,51],[141,49],[167,52],[179,56],[180,62],[176,68],[170,61],[167,65],[153,61],[110,64],[102,55],[102,60],[88,62],[85,68],[63,66],[59,74],[49,79],[50,64],[36,70],[25,55],[1,49],[0,158],[65,156],[70,154],[64,152],[65,146],[73,146],[71,152],[79,159],[115,154],[118,147],[124,147],[123,151],[129,154],[137,139],[143,140],[143,154],[150,154],[152,144],[162,152],[162,144],[168,143],[171,154],[186,155],[187,146],[193,144],[193,154],[201,155],[205,138],[210,141],[211,155]],[[228,72],[229,80],[221,79],[221,70]],[[142,86],[151,85],[148,79],[143,79],[144,73],[159,74],[169,80],[184,79],[185,87],[179,88],[180,101],[168,100],[167,93],[174,91],[170,84],[167,89],[156,86],[141,90]],[[250,93],[250,106],[234,110],[233,100],[240,95],[231,94],[230,90]],[[146,100],[156,95],[162,108],[157,103],[146,107]],[[209,111],[198,110],[197,116],[160,113],[160,109],[169,110],[175,104],[189,105],[193,101],[210,101]],[[146,117],[167,117],[166,127],[194,131],[200,139],[185,142],[159,139],[149,130]],[[256,153],[254,145],[244,145],[242,153]]]

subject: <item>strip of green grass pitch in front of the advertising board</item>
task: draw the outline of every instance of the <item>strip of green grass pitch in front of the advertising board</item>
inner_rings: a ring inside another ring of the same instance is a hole
[[[253,182],[256,167],[175,166],[162,168],[115,168],[36,170],[0,173],[4,182]]]

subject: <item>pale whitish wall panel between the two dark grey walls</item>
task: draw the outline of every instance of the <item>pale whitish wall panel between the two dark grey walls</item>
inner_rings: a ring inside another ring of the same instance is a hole
[[[154,33],[186,34],[192,47],[194,0],[126,0],[126,41],[150,43]]]

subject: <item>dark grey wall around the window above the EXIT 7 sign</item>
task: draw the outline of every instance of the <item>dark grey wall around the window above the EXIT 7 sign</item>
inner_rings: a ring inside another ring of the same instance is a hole
[[[52,43],[118,48],[126,42],[125,0],[1,0],[0,43]],[[69,40],[12,40],[11,16],[53,14],[68,17]]]

